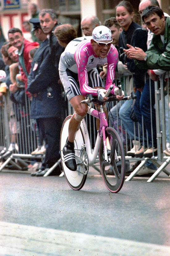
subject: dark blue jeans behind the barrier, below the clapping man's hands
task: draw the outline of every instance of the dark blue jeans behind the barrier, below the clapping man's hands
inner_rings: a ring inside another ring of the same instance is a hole
[[[146,141],[146,130],[147,130],[149,147],[152,147],[151,129],[153,128],[153,146],[157,148],[156,115],[155,115],[155,108],[154,108],[155,85],[153,80],[150,80],[150,81],[151,81],[151,105],[150,105],[150,82],[149,80],[147,80],[142,90],[142,93],[138,90],[136,91],[137,99],[134,104],[134,111],[141,127],[142,127],[142,116],[143,116],[144,138]],[[152,114],[152,124],[151,124],[151,114]]]

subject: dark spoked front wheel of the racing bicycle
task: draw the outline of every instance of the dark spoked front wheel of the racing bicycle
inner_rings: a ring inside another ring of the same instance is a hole
[[[125,152],[121,138],[115,129],[108,127],[105,129],[105,134],[110,142],[111,154],[108,156],[110,162],[105,162],[103,138],[101,138],[99,148],[100,170],[108,190],[117,193],[121,190],[125,180]],[[108,169],[110,166],[112,166],[113,171]]]

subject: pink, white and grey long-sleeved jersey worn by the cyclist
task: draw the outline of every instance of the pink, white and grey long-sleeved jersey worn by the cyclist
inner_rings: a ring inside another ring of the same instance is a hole
[[[72,40],[62,53],[59,63],[59,71],[67,68],[78,74],[80,91],[83,96],[92,94],[97,96],[97,90],[88,86],[87,72],[99,65],[108,63],[105,89],[107,90],[112,84],[115,74],[115,68],[118,60],[117,49],[111,45],[106,58],[101,58],[95,54],[91,46],[92,37],[81,37]],[[115,85],[113,85],[115,87]],[[114,89],[114,88],[113,88]],[[111,93],[114,95],[114,91]]]

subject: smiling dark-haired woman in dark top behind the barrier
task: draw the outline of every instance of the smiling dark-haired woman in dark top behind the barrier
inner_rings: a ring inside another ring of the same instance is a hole
[[[145,70],[136,67],[134,60],[125,57],[123,49],[128,49],[127,44],[147,50],[147,32],[133,21],[134,9],[130,2],[123,0],[116,7],[116,19],[118,24],[123,28],[119,37],[119,52],[123,64],[134,73],[134,86],[140,90],[144,86]]]

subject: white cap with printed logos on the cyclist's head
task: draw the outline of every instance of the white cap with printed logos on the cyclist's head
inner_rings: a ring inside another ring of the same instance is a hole
[[[92,38],[96,41],[111,41],[111,35],[112,33],[110,29],[105,26],[98,26],[94,28],[92,32]]]

